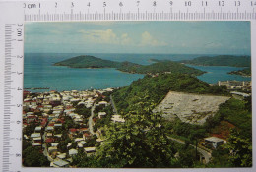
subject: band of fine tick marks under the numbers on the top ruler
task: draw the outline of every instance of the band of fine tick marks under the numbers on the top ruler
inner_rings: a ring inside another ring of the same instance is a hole
[[[245,12],[175,12],[175,13],[63,13],[26,14],[25,21],[180,21],[180,20],[255,20],[256,13]]]

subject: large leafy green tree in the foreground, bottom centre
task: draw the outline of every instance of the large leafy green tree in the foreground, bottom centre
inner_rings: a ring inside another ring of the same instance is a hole
[[[124,124],[112,123],[107,140],[98,147],[96,158],[102,167],[171,167],[174,149],[161,126],[162,117],[153,113],[154,103],[139,98],[134,111],[123,115]]]

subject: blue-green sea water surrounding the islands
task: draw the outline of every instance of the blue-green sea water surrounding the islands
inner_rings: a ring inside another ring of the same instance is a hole
[[[94,55],[101,59],[112,61],[130,61],[142,65],[152,62],[150,59],[187,60],[206,54],[101,54],[101,53],[25,53],[24,87],[49,87],[50,90],[86,90],[104,89],[107,87],[128,86],[133,81],[143,78],[142,74],[128,74],[115,69],[81,69],[63,66],[53,66],[54,63],[78,55]],[[208,55],[213,56],[213,55]],[[190,65],[191,66],[191,65]],[[207,73],[198,78],[207,83],[217,83],[219,80],[249,81],[248,77],[228,75],[227,72],[240,70],[235,67],[192,66]],[[34,91],[45,91],[37,89]]]

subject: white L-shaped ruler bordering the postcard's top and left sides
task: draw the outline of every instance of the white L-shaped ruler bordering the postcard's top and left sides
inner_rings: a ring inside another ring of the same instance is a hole
[[[0,3],[1,171],[22,168],[24,24],[68,21],[252,21],[256,0],[85,0]],[[252,43],[255,32],[252,32]],[[255,45],[253,45],[255,47]],[[252,56],[256,53],[252,47]],[[253,58],[252,58],[253,62]],[[252,69],[253,72],[253,69]],[[50,169],[67,171],[66,169]],[[83,171],[81,169],[69,169]],[[94,171],[94,169],[91,169]],[[110,171],[110,170],[109,170]]]

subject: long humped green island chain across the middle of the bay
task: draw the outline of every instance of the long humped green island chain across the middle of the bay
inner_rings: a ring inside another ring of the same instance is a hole
[[[155,63],[151,65],[139,65],[132,62],[116,62],[111,60],[103,60],[94,56],[82,55],[72,57],[61,62],[57,62],[54,66],[68,66],[71,68],[115,68],[122,72],[137,74],[158,74],[158,73],[180,73],[198,76],[205,72],[194,69],[178,62],[169,60],[152,59]]]

